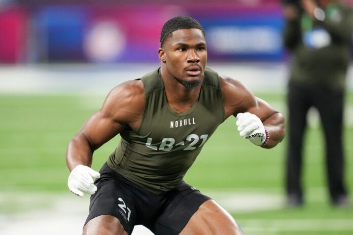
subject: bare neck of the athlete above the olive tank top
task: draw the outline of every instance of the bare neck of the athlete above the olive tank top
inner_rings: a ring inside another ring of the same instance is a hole
[[[160,71],[169,106],[176,112],[189,110],[200,95],[201,84],[186,88],[168,72],[165,66],[162,65]]]

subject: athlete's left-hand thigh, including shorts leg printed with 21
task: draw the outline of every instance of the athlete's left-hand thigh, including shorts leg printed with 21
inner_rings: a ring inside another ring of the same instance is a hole
[[[89,214],[85,223],[86,234],[94,234],[90,232],[99,226],[107,230],[106,232],[108,230],[113,232],[119,230],[121,225],[128,234],[131,234],[137,223],[136,188],[106,164],[100,170],[100,178],[95,185],[97,191],[91,196]]]

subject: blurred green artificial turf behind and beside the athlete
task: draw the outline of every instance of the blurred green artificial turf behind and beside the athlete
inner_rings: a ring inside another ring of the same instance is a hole
[[[286,115],[283,94],[257,94]],[[88,117],[100,108],[103,96],[1,95],[0,96],[0,188],[3,192],[67,192],[69,171],[65,151],[70,138]],[[353,105],[353,94],[346,99]],[[346,179],[353,186],[353,127],[344,129]],[[94,153],[93,169],[99,170],[114,151],[119,136]],[[268,209],[234,212],[232,215],[247,234],[353,234],[352,230],[271,228],[271,221],[284,219],[351,219],[351,209],[329,206],[322,130],[309,128],[305,137],[304,185],[307,201],[301,209]],[[239,137],[235,118],[228,119],[205,144],[185,180],[201,190],[262,191],[284,195],[286,140],[273,149],[262,149]],[[319,188],[321,190],[316,190]],[[312,189],[312,191],[310,191]],[[317,200],[316,200],[317,199]],[[262,222],[254,225],[253,220]],[[275,223],[274,223],[275,224]],[[261,227],[264,230],[261,232]],[[298,230],[299,229],[299,230]]]

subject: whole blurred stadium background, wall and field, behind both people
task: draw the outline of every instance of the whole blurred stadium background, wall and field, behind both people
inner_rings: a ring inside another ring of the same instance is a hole
[[[67,190],[66,145],[114,86],[159,65],[161,27],[177,15],[204,26],[210,67],[286,115],[289,58],[279,0],[0,0],[0,234],[81,233],[89,197]],[[350,68],[344,130],[349,188],[352,89]],[[186,181],[224,206],[245,234],[353,234],[352,210],[328,204],[315,110],[308,119],[303,208],[284,207],[286,141],[270,150],[255,147],[238,136],[233,119],[209,140]],[[95,152],[95,170],[118,141]],[[133,234],[150,233],[137,227]]]

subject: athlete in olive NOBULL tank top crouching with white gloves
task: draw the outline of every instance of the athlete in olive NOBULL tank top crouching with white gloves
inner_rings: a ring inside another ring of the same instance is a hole
[[[137,224],[155,234],[242,234],[183,177],[229,116],[241,136],[263,148],[283,140],[284,117],[206,67],[204,30],[195,19],[170,19],[160,41],[161,67],[114,88],[68,144],[68,187],[79,197],[92,194],[83,234],[131,234]],[[92,170],[93,151],[117,134],[107,163]]]

